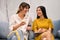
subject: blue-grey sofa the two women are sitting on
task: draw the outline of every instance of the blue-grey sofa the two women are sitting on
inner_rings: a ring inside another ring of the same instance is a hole
[[[53,21],[53,25],[54,25],[53,34],[54,34],[55,40],[60,40],[60,20]],[[9,25],[7,22],[0,22],[0,40],[7,40],[7,35],[9,33],[8,27],[9,27]],[[29,35],[28,39],[34,40],[34,33],[32,31],[30,31],[29,33],[30,33],[30,35]]]

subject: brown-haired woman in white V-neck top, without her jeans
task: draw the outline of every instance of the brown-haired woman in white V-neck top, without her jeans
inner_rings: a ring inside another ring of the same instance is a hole
[[[31,24],[31,19],[27,14],[29,11],[30,5],[22,2],[19,5],[19,10],[17,11],[17,14],[12,15],[10,18],[10,27],[9,29],[11,31],[14,30],[22,30],[24,34],[24,38],[28,40],[28,32],[27,30],[31,30],[31,27],[28,27],[28,25]]]

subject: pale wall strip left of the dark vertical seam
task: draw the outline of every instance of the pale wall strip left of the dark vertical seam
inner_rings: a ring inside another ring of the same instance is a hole
[[[0,22],[8,22],[6,0],[0,0]]]

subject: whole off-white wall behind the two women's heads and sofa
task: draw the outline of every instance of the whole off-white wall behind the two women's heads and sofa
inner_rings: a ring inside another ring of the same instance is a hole
[[[3,14],[6,15],[7,12],[5,3],[7,2],[8,17],[10,17],[11,15],[16,14],[18,6],[22,1],[26,2],[26,0],[0,0],[0,11],[2,12],[3,10]],[[32,19],[36,17],[36,7],[43,5],[46,7],[47,15],[49,18],[52,20],[60,20],[60,0],[29,0],[28,3],[31,6],[29,15],[32,17]],[[3,16],[4,19],[6,19],[5,15]]]

